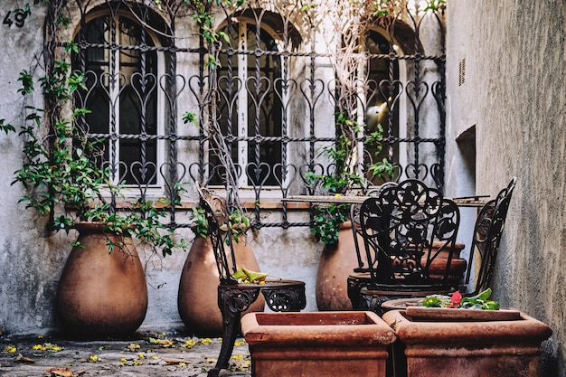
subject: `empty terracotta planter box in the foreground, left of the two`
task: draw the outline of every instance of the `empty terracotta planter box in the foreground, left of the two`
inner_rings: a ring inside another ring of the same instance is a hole
[[[385,376],[395,333],[372,312],[250,313],[253,377]]]

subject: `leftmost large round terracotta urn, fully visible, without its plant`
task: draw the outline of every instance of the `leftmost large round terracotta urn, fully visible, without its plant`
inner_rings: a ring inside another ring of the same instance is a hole
[[[134,333],[146,317],[147,286],[133,241],[105,232],[101,223],[81,223],[77,230],[80,246],[71,250],[57,290],[64,330],[95,338]],[[108,241],[125,246],[108,253]]]

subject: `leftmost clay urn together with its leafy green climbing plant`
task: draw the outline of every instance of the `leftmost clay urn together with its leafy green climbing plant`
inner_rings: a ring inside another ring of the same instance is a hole
[[[72,48],[72,45],[69,46]],[[33,95],[33,76],[22,71],[18,79],[24,96]],[[118,212],[115,200],[121,185],[110,183],[110,169],[96,162],[100,143],[89,137],[86,108],[72,106],[73,93],[83,88],[83,76],[70,64],[52,61],[40,79],[46,110],[26,107],[23,139],[24,164],[13,184],[24,185],[20,202],[42,215],[46,229],[79,231],[59,281],[57,318],[69,335],[105,337],[136,331],[146,316],[145,272],[135,239],[164,257],[186,243],[163,221],[171,200],[137,200]],[[6,134],[15,127],[0,121]],[[178,192],[178,191],[177,191]]]

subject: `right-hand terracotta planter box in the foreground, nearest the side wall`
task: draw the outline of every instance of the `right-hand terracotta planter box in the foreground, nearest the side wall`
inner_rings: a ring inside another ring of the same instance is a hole
[[[422,317],[408,316],[410,308],[383,315],[398,336],[393,346],[396,377],[540,375],[541,343],[552,335],[548,325],[518,311],[509,316],[481,310],[474,317],[462,316],[464,309],[430,309]],[[509,317],[514,319],[504,319]]]

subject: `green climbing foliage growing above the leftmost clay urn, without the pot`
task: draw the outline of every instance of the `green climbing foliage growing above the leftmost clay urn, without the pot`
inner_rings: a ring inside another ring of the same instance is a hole
[[[73,48],[70,44],[68,51]],[[161,250],[163,256],[176,249],[185,250],[188,247],[185,240],[178,238],[162,221],[171,200],[137,200],[130,203],[124,213],[118,213],[107,202],[103,191],[123,196],[123,185],[110,184],[108,167],[102,168],[95,162],[102,154],[101,142],[91,139],[86,127],[82,126],[84,115],[90,111],[71,108],[73,93],[85,89],[84,78],[70,70],[70,63],[64,59],[54,61],[50,74],[40,79],[43,95],[48,98],[48,103],[54,104],[47,114],[42,108],[26,107],[26,122],[18,133],[24,140],[24,164],[14,172],[13,181],[13,184],[23,184],[27,191],[20,202],[25,203],[26,208],[47,215],[49,231],[68,233],[80,222],[104,223],[105,232],[120,236],[120,241],[108,238],[109,252],[126,247],[124,239],[133,237],[153,250]],[[33,77],[22,71],[18,80],[22,84],[18,92],[24,96],[32,95],[35,90]],[[68,113],[68,116],[61,113]],[[4,121],[0,121],[0,129],[6,134],[16,130]],[[179,184],[175,189],[176,193],[183,191]],[[80,246],[78,243],[73,245]]]

